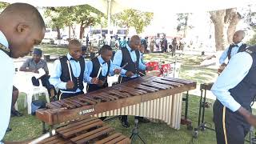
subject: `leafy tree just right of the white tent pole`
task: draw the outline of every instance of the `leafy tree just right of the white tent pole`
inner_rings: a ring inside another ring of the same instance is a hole
[[[120,27],[129,29],[131,26],[134,26],[137,34],[141,34],[144,28],[150,25],[153,16],[153,13],[129,9],[124,10],[121,13],[114,14],[113,20]]]

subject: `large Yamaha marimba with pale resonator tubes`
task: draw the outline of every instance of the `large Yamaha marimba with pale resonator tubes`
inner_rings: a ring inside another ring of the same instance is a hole
[[[88,94],[46,104],[37,118],[49,125],[90,116],[136,115],[160,119],[179,129],[182,92],[196,88],[196,82],[179,78],[142,77]]]

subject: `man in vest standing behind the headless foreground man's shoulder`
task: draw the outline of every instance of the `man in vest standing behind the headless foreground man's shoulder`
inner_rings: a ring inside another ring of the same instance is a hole
[[[226,66],[226,58],[228,58],[228,60],[230,61],[230,58],[234,56],[234,54],[237,54],[238,52],[241,52],[242,50],[246,49],[246,43],[242,42],[242,39],[245,38],[245,36],[246,33],[243,30],[238,30],[234,33],[234,43],[230,44],[230,46],[223,51],[221,57],[219,58],[219,63],[221,64],[222,67]]]

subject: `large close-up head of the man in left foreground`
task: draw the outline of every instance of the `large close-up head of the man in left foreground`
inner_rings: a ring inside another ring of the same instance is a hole
[[[12,58],[29,54],[45,35],[45,22],[38,10],[26,3],[13,3],[0,14],[0,30],[9,43]]]

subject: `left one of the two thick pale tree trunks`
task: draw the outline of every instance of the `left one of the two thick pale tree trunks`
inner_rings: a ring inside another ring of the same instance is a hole
[[[214,23],[216,51],[224,50],[226,39],[224,36],[224,17],[225,10],[217,10],[210,12],[210,19]]]

